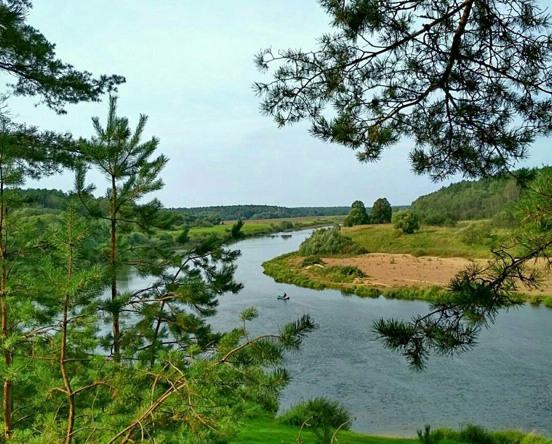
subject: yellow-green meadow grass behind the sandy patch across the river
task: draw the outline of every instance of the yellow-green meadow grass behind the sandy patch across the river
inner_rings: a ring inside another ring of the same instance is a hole
[[[455,233],[457,227],[422,226],[413,234],[398,234],[391,224],[362,225],[343,228],[342,233],[370,253],[398,253],[414,256],[439,256],[442,258],[490,258],[490,246],[465,244]],[[497,230],[498,236],[505,237],[506,230]]]

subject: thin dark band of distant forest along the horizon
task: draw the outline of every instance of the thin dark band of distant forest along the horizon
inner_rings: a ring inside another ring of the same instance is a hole
[[[223,221],[279,219],[309,216],[341,216],[349,212],[349,207],[280,207],[275,205],[221,205],[193,208],[170,208],[198,218],[216,215]]]

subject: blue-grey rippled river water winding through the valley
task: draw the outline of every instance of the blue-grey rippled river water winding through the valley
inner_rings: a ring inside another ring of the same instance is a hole
[[[383,348],[371,325],[380,317],[426,313],[427,303],[343,296],[276,283],[263,274],[263,261],[297,250],[310,233],[234,245],[242,252],[236,278],[245,288],[222,297],[211,322],[220,331],[239,327],[238,314],[254,306],[259,318],[251,323],[253,334],[274,333],[304,313],[319,324],[301,354],[288,357],[293,381],[280,398],[283,409],[324,395],[347,406],[355,417],[352,430],[368,434],[413,436],[424,424],[472,423],[552,436],[552,309],[528,305],[502,313],[473,351],[454,359],[431,356],[427,370],[413,372],[402,356]],[[290,300],[277,300],[284,291]]]

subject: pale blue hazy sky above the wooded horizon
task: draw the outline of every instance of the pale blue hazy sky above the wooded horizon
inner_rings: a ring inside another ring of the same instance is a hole
[[[545,0],[552,6],[552,0]],[[352,151],[309,136],[308,125],[278,129],[259,113],[251,85],[268,81],[253,65],[259,50],[312,49],[330,31],[316,0],[35,1],[29,23],[56,44],[57,56],[94,74],[121,74],[119,115],[134,126],[149,117],[145,136],[160,138],[170,161],[156,193],[167,207],[267,204],[342,206],[379,197],[408,205],[451,181],[432,183],[411,172],[408,141],[360,164]],[[106,97],[107,98],[107,97]],[[107,101],[67,106],[56,115],[36,98],[12,98],[18,121],[93,135]],[[524,165],[550,163],[550,141],[535,143]],[[522,166],[522,165],[520,165]],[[89,174],[102,191],[104,179]],[[72,174],[28,186],[69,190]]]

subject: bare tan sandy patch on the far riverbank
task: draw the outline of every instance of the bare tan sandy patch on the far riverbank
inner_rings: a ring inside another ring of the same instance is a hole
[[[438,258],[436,256],[412,256],[411,254],[370,253],[352,258],[323,258],[327,265],[356,265],[367,275],[364,283],[379,287],[427,287],[430,285],[446,286],[457,272],[470,263],[463,258]],[[487,259],[476,259],[482,265]],[[532,268],[543,268],[535,264]],[[523,293],[552,293],[552,276],[543,280],[538,290],[528,291],[519,288]],[[360,282],[359,282],[360,283]]]

